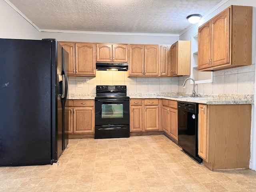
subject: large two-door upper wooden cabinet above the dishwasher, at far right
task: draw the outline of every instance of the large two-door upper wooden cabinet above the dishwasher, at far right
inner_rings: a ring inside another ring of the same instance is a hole
[[[198,28],[198,70],[252,64],[252,7],[230,6]]]

